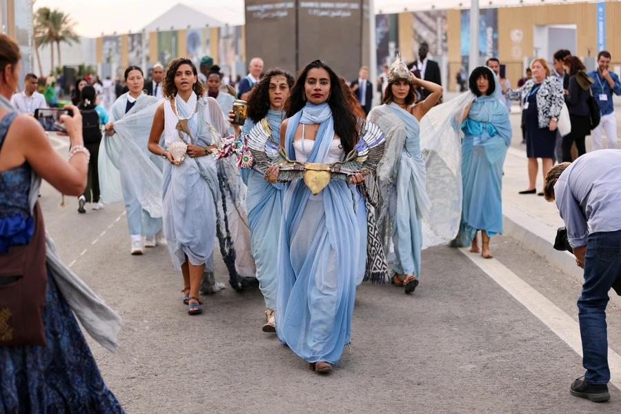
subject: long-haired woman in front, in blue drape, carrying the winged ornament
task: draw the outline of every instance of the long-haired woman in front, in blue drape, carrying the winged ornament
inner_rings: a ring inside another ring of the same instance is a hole
[[[280,145],[290,159],[342,161],[359,139],[358,118],[338,75],[308,63],[285,104]],[[265,172],[274,181],[277,166]],[[350,184],[361,184],[354,175]],[[277,263],[276,333],[312,371],[330,372],[351,339],[360,252],[359,228],[345,181],[332,179],[313,195],[304,180],[285,184]]]

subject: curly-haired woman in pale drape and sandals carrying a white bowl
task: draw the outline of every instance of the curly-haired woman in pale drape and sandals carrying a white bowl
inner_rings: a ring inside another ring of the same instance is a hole
[[[148,149],[163,157],[162,181],[164,230],[176,271],[184,276],[184,303],[188,313],[202,312],[199,288],[204,270],[213,272],[216,239],[218,177],[210,150],[214,135],[228,135],[220,107],[204,88],[190,59],[168,65],[162,94],[166,101],[155,111]],[[166,148],[159,145],[164,133]],[[172,144],[187,145],[186,155],[175,160]]]

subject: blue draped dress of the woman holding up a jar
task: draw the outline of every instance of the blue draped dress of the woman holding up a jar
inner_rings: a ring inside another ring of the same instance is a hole
[[[280,142],[280,124],[284,111],[268,110],[267,118],[272,129],[272,138]],[[247,134],[254,127],[251,119],[246,120],[242,130]],[[257,266],[259,288],[268,309],[276,306],[276,279],[278,239],[282,221],[283,183],[270,184],[263,173],[256,170],[242,170],[242,177],[248,185],[246,206],[248,206],[248,226],[250,242]]]

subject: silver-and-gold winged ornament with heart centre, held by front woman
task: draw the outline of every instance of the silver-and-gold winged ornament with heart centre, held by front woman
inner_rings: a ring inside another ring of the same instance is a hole
[[[349,181],[351,175],[367,175],[377,168],[386,139],[380,127],[365,119],[358,120],[359,140],[343,161],[319,164],[292,161],[284,148],[272,138],[268,119],[263,119],[250,130],[248,147],[255,158],[255,166],[265,172],[270,166],[278,166],[278,181],[304,179],[314,195],[326,188],[331,179]]]

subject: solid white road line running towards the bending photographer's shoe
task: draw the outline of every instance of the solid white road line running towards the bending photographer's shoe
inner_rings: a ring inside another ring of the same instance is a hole
[[[580,339],[580,325],[573,318],[564,313],[558,306],[549,301],[544,295],[524,282],[509,268],[506,268],[496,259],[484,259],[481,255],[469,252],[469,248],[460,248],[462,253],[471,259],[486,275],[500,285],[511,296],[517,299],[541,322],[546,324],[560,339],[571,346],[573,351],[582,356],[582,340]],[[621,389],[621,356],[608,348],[608,364],[610,366],[610,381]],[[576,377],[582,375],[576,373]]]

